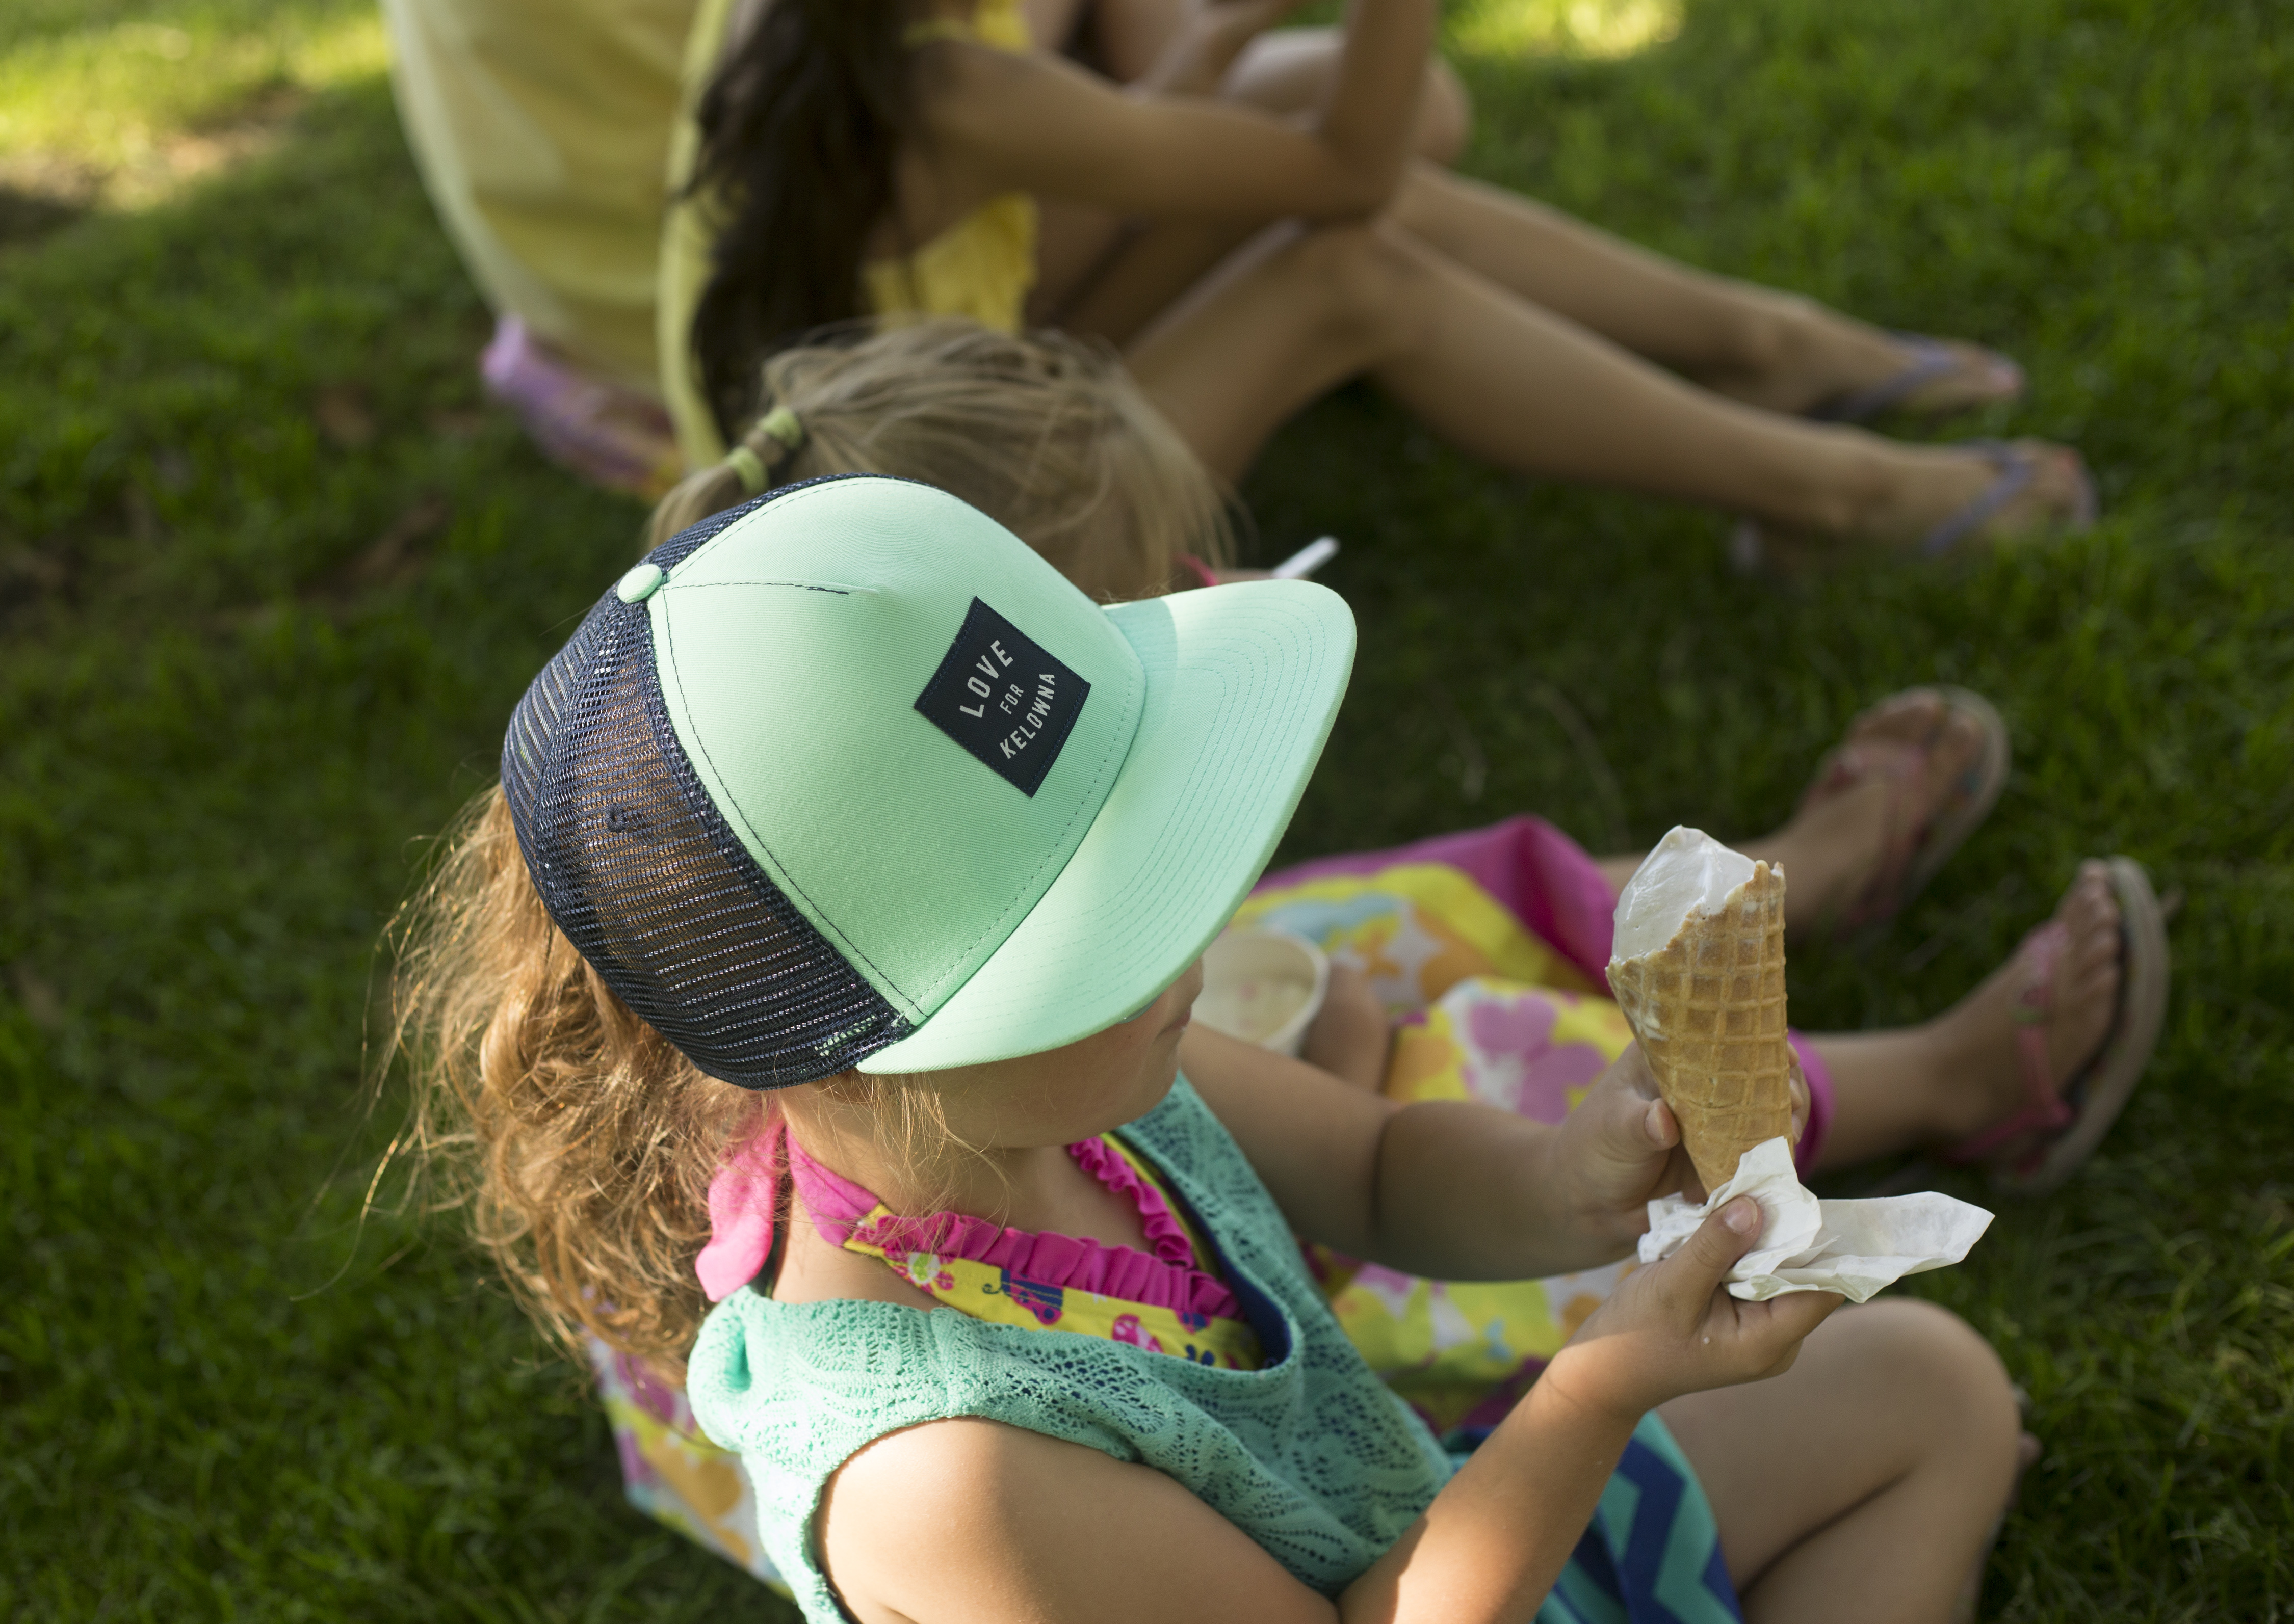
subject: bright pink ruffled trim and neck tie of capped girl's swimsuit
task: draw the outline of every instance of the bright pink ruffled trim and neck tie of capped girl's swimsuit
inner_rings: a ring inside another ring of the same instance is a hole
[[[695,1259],[695,1273],[709,1301],[720,1303],[764,1271],[773,1252],[773,1213],[780,1207],[785,1165],[812,1223],[837,1246],[858,1239],[890,1257],[961,1257],[1023,1280],[1168,1307],[1181,1317],[1241,1319],[1234,1291],[1195,1268],[1186,1225],[1154,1184],[1101,1138],[1069,1145],[1067,1154],[1099,1184],[1131,1200],[1152,1252],[1071,1234],[1007,1229],[968,1213],[881,1213],[881,1202],[869,1190],[812,1161],[775,1117],[709,1181],[709,1246]]]

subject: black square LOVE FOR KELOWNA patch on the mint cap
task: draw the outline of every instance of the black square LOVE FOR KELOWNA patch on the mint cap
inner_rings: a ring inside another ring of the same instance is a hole
[[[1092,684],[980,599],[915,709],[1025,796],[1060,759]]]

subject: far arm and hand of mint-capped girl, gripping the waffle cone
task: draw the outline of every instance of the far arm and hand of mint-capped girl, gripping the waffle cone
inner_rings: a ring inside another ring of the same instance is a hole
[[[1436,1280],[1615,1262],[1647,1202],[1695,1177],[1638,1048],[1558,1126],[1468,1101],[1395,1106],[1200,1025],[1179,1060],[1298,1234]]]

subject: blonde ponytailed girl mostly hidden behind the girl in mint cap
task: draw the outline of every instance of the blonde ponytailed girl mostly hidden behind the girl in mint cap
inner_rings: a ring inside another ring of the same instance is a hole
[[[773,479],[892,473],[963,495],[1103,601],[1195,585],[1172,567],[1186,548],[1227,557],[1209,475],[1108,356],[1058,335],[934,321],[791,349],[766,365],[764,399],[773,411],[743,438],[741,466],[688,477],[656,509],[654,544]],[[1849,727],[1792,821],[1743,849],[1787,872],[1796,938],[1870,931],[1991,810],[2007,755],[2005,725],[1977,695],[1893,695]],[[1331,954],[1310,1062],[1397,1101],[1482,1099],[1560,1122],[1631,1041],[1604,966],[1617,888],[1640,856],[1594,858],[1514,817],[1269,876],[1239,922]],[[2140,867],[2085,865],[2055,918],[1936,1021],[1796,1039],[1810,1085],[1803,1172],[1927,1149],[1987,1163],[2007,1190],[2055,1188],[2140,1078],[2166,970]],[[1443,1434],[1503,1413],[1620,1275],[1475,1285],[1314,1257],[1347,1333]],[[633,1367],[601,1363],[610,1392],[642,1388]],[[617,1411],[645,1424],[642,1406]],[[677,1447],[658,1431],[647,1443]]]

